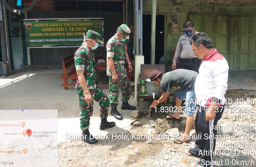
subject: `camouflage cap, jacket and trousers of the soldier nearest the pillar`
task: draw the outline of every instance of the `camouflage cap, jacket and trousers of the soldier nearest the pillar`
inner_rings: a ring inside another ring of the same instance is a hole
[[[122,33],[123,37],[130,34],[130,29],[126,24],[122,24],[118,27],[119,31]],[[117,35],[115,34],[110,40],[107,41],[107,57],[113,57],[114,68],[118,79],[116,82],[112,80],[112,72],[107,62],[107,76],[109,76],[110,85],[110,106],[116,107],[118,105],[118,94],[121,90],[123,102],[127,102],[130,99],[130,83],[126,72],[126,41],[119,41]],[[127,55],[128,56],[128,55]]]

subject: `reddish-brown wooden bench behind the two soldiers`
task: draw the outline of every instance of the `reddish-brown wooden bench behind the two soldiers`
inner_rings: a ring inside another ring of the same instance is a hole
[[[106,61],[106,57],[95,57],[96,62],[96,68],[98,72],[103,72],[103,77],[100,81],[100,86],[102,87],[109,87],[109,84],[103,84],[102,81],[105,77],[105,73],[107,70],[107,63],[97,63],[99,59],[103,59]],[[70,55],[67,57],[64,57],[62,59],[62,65],[63,65],[63,76],[61,76],[62,79],[64,79],[64,83],[62,84],[62,87],[64,87],[64,90],[68,90],[68,87],[75,87],[76,80],[78,79],[78,76],[76,74],[75,64],[74,64],[74,55]],[[68,72],[68,68],[71,67],[71,69]],[[126,67],[127,68],[127,67]],[[133,77],[133,73],[128,73],[128,79],[131,82],[131,79]],[[71,83],[68,83],[68,79],[72,79]],[[75,82],[75,83],[74,83]]]

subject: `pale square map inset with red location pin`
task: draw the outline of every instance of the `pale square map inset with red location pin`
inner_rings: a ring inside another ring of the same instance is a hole
[[[58,166],[58,110],[0,110],[0,167]]]

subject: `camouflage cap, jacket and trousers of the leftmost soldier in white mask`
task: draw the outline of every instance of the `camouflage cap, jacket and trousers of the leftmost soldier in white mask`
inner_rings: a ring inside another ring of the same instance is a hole
[[[94,38],[92,30],[88,30],[86,36]],[[94,32],[95,33],[95,32]],[[100,34],[98,34],[100,35]],[[95,38],[94,38],[95,39]],[[98,43],[102,43],[99,38],[96,38]],[[87,87],[92,95],[92,104],[88,105],[85,102],[84,91],[80,85],[79,79],[76,81],[76,92],[79,94],[79,106],[80,106],[80,129],[85,130],[89,128],[90,116],[93,112],[93,101],[97,101],[100,105],[100,117],[101,119],[107,118],[109,99],[104,93],[101,87],[98,87],[98,69],[95,67],[94,53],[89,50],[83,43],[82,46],[75,52],[74,56],[76,70],[84,70],[84,77],[86,79]]]

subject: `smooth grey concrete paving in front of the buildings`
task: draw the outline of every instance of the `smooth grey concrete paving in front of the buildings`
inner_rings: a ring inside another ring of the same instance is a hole
[[[61,87],[62,74],[63,69],[57,67],[23,68],[6,78],[0,77],[0,109],[58,110],[58,140],[64,141],[65,134],[80,134],[78,94],[74,87],[69,87],[69,90]],[[105,76],[102,84],[107,83],[108,77]],[[256,90],[256,72],[230,71],[228,89]],[[103,90],[108,95],[109,89],[105,87]],[[121,103],[119,98],[119,104]],[[130,96],[129,104],[137,107],[133,96]],[[140,107],[149,107],[148,103],[144,105],[142,103]],[[121,110],[121,105],[118,105],[117,109],[124,119],[118,121],[109,114],[108,121],[115,121],[117,126],[101,131],[98,129],[99,105],[95,102],[90,132],[95,135],[127,132],[130,123],[135,119],[129,116],[131,111]]]

